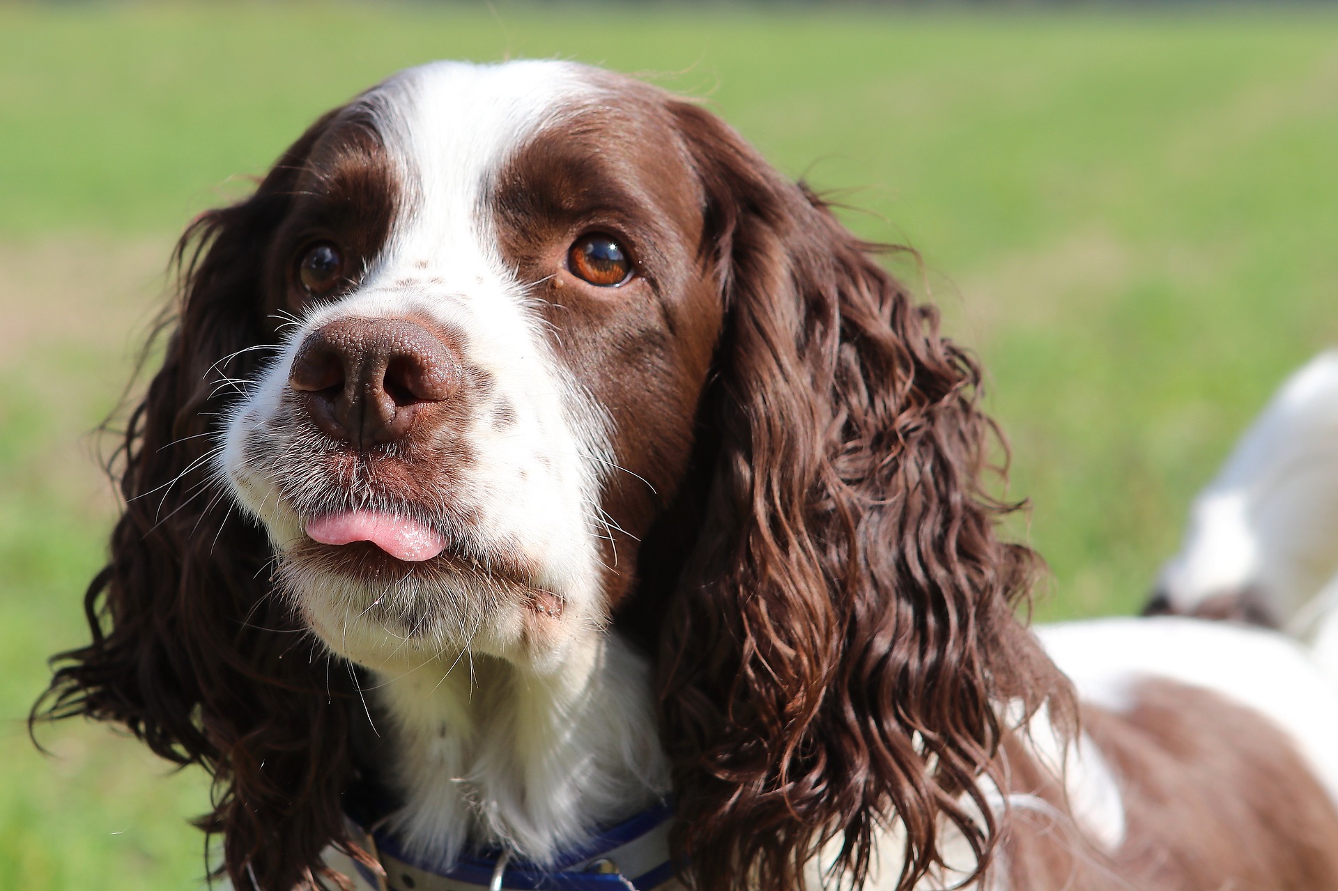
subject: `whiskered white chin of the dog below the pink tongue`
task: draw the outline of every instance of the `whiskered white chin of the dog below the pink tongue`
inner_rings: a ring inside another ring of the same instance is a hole
[[[401,561],[371,542],[305,540],[280,557],[280,579],[337,656],[377,670],[413,669],[462,653],[541,668],[582,625],[563,598],[504,561],[443,553]]]

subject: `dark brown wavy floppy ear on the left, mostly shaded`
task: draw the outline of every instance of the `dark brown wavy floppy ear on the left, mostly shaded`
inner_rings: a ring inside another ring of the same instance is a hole
[[[234,887],[314,886],[344,840],[339,793],[352,767],[347,670],[270,597],[270,547],[214,478],[221,416],[273,341],[265,257],[330,116],[256,194],[209,211],[177,249],[181,296],[162,367],[118,450],[126,506],[111,561],[84,598],[92,642],[56,656],[33,718],[123,724],[159,756],[214,777],[213,813]],[[116,471],[114,471],[114,476]]]

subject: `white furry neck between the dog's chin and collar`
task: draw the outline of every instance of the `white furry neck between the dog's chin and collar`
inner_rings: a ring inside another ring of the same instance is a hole
[[[649,674],[602,633],[546,673],[464,654],[379,677],[404,801],[391,828],[442,867],[487,844],[546,863],[649,807],[669,787]]]

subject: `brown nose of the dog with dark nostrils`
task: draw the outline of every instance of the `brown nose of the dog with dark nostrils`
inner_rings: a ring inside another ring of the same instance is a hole
[[[448,399],[459,363],[404,318],[341,318],[297,349],[288,385],[328,436],[357,450],[403,439],[424,405]]]

